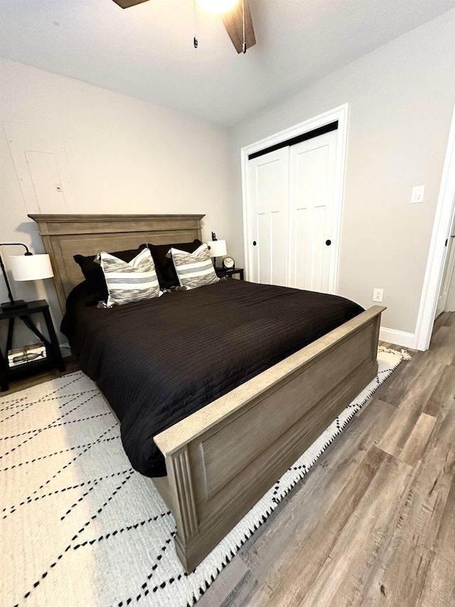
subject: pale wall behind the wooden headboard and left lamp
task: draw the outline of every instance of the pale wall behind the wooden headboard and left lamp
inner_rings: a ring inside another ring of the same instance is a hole
[[[64,184],[67,204],[60,212],[205,213],[203,236],[215,231],[229,242],[225,127],[4,59],[0,82],[0,242],[19,241],[43,252],[38,226],[27,218],[40,209],[24,199],[6,138],[19,127],[35,138],[63,142],[71,183]],[[21,250],[1,253],[5,260]],[[17,298],[48,299],[60,324],[52,280],[10,282]],[[0,301],[6,299],[0,277]]]

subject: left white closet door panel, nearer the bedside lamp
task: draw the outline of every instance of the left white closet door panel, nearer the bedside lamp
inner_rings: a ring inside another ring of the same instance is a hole
[[[289,147],[250,160],[249,173],[248,280],[287,286]]]

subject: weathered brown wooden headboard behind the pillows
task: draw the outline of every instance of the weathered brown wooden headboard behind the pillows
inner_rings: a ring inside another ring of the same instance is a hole
[[[50,255],[58,302],[65,312],[70,291],[84,280],[73,255],[137,248],[142,243],[202,240],[203,215],[29,215]]]

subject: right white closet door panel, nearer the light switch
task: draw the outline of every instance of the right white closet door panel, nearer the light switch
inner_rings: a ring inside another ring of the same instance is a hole
[[[332,131],[290,148],[289,287],[330,290],[336,146]]]

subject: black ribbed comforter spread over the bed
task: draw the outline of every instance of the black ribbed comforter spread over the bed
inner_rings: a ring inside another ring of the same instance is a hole
[[[146,476],[166,474],[154,435],[363,312],[343,297],[241,280],[109,310],[91,299],[75,287],[62,331]]]

